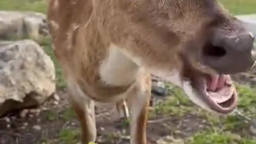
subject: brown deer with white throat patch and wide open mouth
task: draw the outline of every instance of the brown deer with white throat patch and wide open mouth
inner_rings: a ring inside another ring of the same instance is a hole
[[[238,101],[230,75],[256,60],[253,34],[217,0],[50,0],[47,21],[84,144],[97,140],[94,102],[116,102],[130,143],[147,143],[151,74],[227,115]]]

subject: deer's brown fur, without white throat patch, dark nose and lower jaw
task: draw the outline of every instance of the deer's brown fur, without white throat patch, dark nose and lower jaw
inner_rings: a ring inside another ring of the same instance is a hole
[[[141,62],[138,68],[175,69],[186,78],[195,71],[215,73],[198,65],[199,48],[211,38],[213,29],[235,29],[231,17],[214,0],[50,0],[47,15],[53,50],[65,78],[72,79],[87,97],[111,102],[126,93],[133,109],[139,93],[144,93],[139,115],[132,115],[135,123],[131,125],[137,125],[133,144],[146,144],[150,76],[138,72],[124,85],[103,82],[100,66],[109,56],[110,45]],[[89,142],[94,135],[88,136],[86,109],[73,99],[74,93],[70,97],[81,121],[83,142]]]

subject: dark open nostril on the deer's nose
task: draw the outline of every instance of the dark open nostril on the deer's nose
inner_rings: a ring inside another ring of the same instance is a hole
[[[207,43],[203,49],[203,54],[206,57],[219,58],[225,56],[226,53],[227,52],[223,47],[213,45],[212,43]]]

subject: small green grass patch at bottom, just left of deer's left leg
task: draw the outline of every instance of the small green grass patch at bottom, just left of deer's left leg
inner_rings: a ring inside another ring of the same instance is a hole
[[[79,139],[80,130],[63,128],[59,132],[59,139],[65,144],[76,143]]]

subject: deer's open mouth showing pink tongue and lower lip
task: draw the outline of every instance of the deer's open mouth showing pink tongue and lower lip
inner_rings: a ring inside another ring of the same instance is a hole
[[[218,113],[227,114],[237,105],[237,93],[229,75],[204,76],[195,79],[201,99]]]

